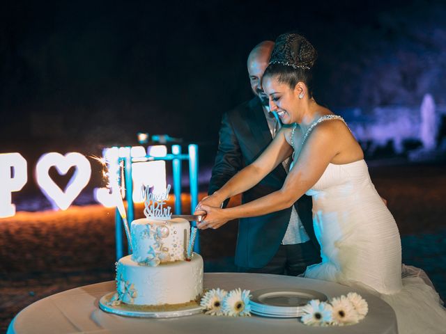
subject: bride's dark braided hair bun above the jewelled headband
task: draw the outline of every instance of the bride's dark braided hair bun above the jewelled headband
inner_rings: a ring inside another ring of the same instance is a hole
[[[298,33],[283,33],[275,41],[270,64],[289,65],[309,70],[313,67],[318,53],[313,45]]]

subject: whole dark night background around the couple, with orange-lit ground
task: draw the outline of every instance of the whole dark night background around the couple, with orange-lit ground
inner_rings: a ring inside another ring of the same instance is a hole
[[[445,17],[446,1],[419,0],[3,1],[0,153],[20,152],[29,177],[12,195],[17,215],[0,219],[0,332],[38,299],[114,279],[114,211],[88,205],[104,185],[99,164],[90,159],[91,182],[67,211],[22,212],[51,207],[32,178],[38,158],[99,156],[136,145],[137,132],[169,134],[199,144],[203,196],[222,113],[252,97],[249,51],[291,30],[318,50],[315,97],[334,112],[382,107],[376,129],[406,116],[414,125],[432,95],[443,116],[436,152],[423,157],[436,159],[397,160],[388,143],[366,158],[397,221],[403,262],[425,269],[445,299]],[[206,271],[235,270],[236,234],[236,223],[203,232]]]

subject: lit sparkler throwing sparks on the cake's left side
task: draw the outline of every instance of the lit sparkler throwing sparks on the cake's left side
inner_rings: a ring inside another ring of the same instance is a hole
[[[103,157],[94,157],[91,156],[91,158],[97,160],[100,162],[100,164],[102,164],[102,167],[104,168],[104,170],[102,170],[102,175],[104,177],[107,177],[109,180],[109,183],[107,184],[107,188],[112,189],[112,196],[114,199],[114,203],[116,205],[116,209],[118,209],[118,212],[123,220],[123,225],[124,225],[124,230],[125,230],[125,236],[127,237],[127,242],[130,248],[130,253],[132,253],[132,237],[130,236],[130,228],[128,225],[128,221],[127,221],[127,212],[125,212],[125,207],[124,207],[124,201],[123,201],[123,196],[125,196],[125,189],[123,189],[123,187],[119,186],[118,184],[118,170],[116,170],[116,168],[113,168],[114,170],[112,171],[112,165],[110,164],[109,161],[107,161],[107,159],[103,158]],[[107,164],[109,165],[109,170],[107,170]],[[118,165],[118,168],[121,168],[122,172],[121,172],[121,180],[123,180],[123,169],[124,166],[122,164]]]

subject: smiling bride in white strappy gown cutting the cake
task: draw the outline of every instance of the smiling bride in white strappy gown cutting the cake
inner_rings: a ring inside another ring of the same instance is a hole
[[[320,264],[305,277],[362,287],[387,301],[400,333],[444,333],[446,311],[421,269],[401,266],[397,224],[372,184],[364,154],[340,116],[312,97],[316,50],[301,35],[280,35],[263,89],[284,126],[251,165],[199,202],[206,212],[199,229],[220,228],[234,218],[261,216],[290,207],[304,193],[313,198]],[[372,89],[372,88],[371,88]],[[282,189],[252,202],[220,209],[224,200],[256,185],[293,156]]]

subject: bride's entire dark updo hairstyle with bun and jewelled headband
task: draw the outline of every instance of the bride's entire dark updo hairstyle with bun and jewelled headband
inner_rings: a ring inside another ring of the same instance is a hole
[[[308,88],[308,97],[313,96],[312,67],[318,53],[308,40],[298,33],[284,33],[275,41],[270,63],[263,74],[265,77],[275,77],[281,84],[287,84],[291,89],[299,81]]]

